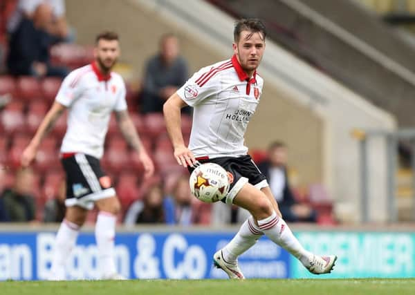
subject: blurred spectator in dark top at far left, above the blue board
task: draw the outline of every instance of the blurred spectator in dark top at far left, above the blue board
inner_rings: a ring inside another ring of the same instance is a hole
[[[35,220],[35,197],[33,196],[33,171],[19,169],[15,185],[1,194],[4,221],[28,222]]]

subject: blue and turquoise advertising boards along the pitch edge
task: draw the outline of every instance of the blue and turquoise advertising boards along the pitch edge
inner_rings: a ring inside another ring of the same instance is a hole
[[[268,238],[239,258],[247,278],[409,278],[415,276],[415,234],[411,229],[293,227],[315,253],[338,255],[335,270],[313,276]],[[0,228],[0,280],[44,280],[50,274],[57,227]],[[138,227],[119,230],[116,265],[127,278],[226,278],[212,266],[212,255],[237,229]],[[68,258],[68,279],[100,276],[93,229],[83,231]]]

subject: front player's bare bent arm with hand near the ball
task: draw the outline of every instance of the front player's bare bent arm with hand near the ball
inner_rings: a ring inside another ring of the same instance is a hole
[[[174,147],[174,158],[176,158],[179,165],[194,166],[196,159],[190,149],[185,146],[183,134],[181,132],[181,108],[186,106],[183,99],[177,93],[174,93],[163,106],[163,113],[169,133],[170,140],[172,140]]]

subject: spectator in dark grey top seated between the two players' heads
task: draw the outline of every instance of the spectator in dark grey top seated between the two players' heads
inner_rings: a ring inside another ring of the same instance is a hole
[[[140,102],[142,113],[162,113],[165,101],[185,84],[187,64],[179,52],[175,35],[169,33],[161,37],[160,53],[151,57],[145,68]],[[184,108],[183,112],[190,113],[190,108]]]

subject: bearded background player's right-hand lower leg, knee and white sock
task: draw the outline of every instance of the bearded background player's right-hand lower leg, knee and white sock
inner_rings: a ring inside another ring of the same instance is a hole
[[[120,201],[116,196],[112,196],[97,200],[95,205],[99,210],[95,225],[95,239],[100,255],[102,278],[122,279],[117,273],[114,254],[117,215],[121,209]]]

